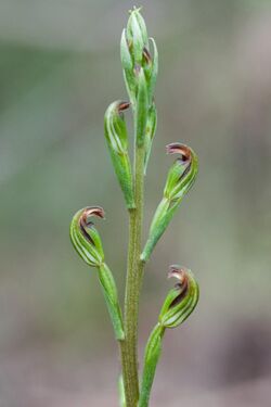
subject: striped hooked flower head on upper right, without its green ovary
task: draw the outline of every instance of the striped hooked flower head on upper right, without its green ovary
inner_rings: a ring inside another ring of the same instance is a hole
[[[168,154],[179,154],[169,169],[164,195],[170,201],[178,201],[192,187],[197,174],[197,157],[191,148],[181,143],[167,145]]]

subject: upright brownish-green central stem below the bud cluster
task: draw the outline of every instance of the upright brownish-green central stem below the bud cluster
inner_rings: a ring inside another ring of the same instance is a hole
[[[137,407],[138,377],[138,316],[144,264],[140,259],[144,193],[144,147],[136,147],[134,201],[129,211],[129,246],[125,296],[125,341],[120,343],[127,407]]]

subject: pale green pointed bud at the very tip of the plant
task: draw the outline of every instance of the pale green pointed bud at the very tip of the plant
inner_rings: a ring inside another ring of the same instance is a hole
[[[140,14],[140,9],[131,11],[127,23],[127,40],[136,64],[142,64],[143,49],[149,48],[149,38],[145,22]]]

